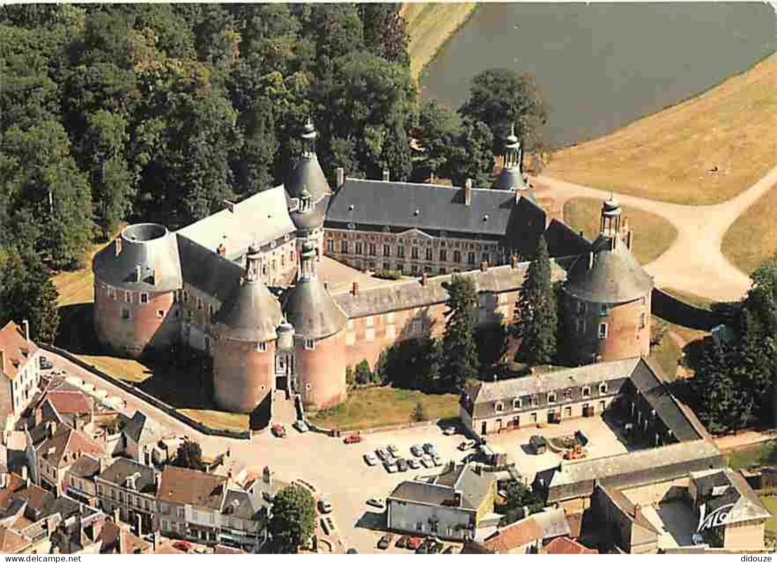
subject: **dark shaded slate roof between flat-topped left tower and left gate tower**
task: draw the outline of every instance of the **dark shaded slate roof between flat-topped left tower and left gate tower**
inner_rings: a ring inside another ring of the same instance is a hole
[[[242,266],[186,237],[178,237],[183,279],[204,294],[225,302],[243,275]]]

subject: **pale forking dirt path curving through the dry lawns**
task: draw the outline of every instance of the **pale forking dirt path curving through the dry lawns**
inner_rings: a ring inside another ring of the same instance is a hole
[[[538,176],[537,181],[546,187],[546,193],[559,200],[610,196],[601,189],[548,176]],[[777,166],[738,196],[715,205],[678,205],[620,193],[615,196],[625,205],[664,217],[678,230],[678,238],[667,252],[645,266],[657,286],[674,287],[716,301],[737,301],[750,288],[750,277],[726,259],[720,244],[737,217],[775,184]],[[646,245],[650,241],[640,238],[636,231],[634,244]]]

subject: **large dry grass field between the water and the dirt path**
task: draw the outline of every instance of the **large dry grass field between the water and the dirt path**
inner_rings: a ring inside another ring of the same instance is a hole
[[[719,203],[774,166],[775,130],[772,54],[700,96],[558,151],[545,173],[654,200]],[[718,172],[710,173],[715,167]]]

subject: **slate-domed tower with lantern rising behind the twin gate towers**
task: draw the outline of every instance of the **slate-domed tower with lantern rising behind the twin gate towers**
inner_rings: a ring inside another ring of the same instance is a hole
[[[313,123],[308,119],[302,130],[302,156],[291,170],[285,187],[291,198],[291,221],[297,228],[298,250],[301,252],[305,242],[315,245],[317,256],[322,255],[324,217],[332,189],[315,155],[315,132]]]

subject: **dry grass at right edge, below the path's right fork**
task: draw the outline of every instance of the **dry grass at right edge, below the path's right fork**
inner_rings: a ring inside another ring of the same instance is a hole
[[[775,149],[777,150],[777,149]],[[772,157],[772,162],[774,159]],[[752,273],[777,252],[777,186],[737,217],[720,245],[723,255],[744,273]]]

